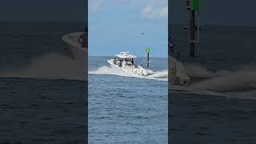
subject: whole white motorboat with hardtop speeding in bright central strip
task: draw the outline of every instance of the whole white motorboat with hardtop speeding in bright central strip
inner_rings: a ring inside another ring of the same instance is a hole
[[[120,52],[120,54],[116,54],[115,56],[117,58],[107,61],[111,68],[116,70],[123,70],[129,74],[137,74],[139,76],[148,75],[142,66],[135,64],[135,59],[137,57],[134,54],[130,54],[129,52]]]

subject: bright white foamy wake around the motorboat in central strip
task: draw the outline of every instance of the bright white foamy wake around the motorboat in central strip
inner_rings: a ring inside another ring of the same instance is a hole
[[[110,75],[118,75],[122,77],[137,77],[137,78],[148,78],[148,79],[156,79],[162,81],[168,81],[168,71],[153,71],[153,70],[146,70],[148,74],[147,77],[139,76],[137,74],[130,74],[126,73],[123,70],[112,69],[110,66],[102,66],[99,67],[97,70],[90,70],[89,74],[110,74]]]

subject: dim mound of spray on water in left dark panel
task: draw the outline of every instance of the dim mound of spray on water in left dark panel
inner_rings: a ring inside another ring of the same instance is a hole
[[[22,70],[0,72],[1,78],[39,78],[86,81],[82,63],[62,54],[47,54],[34,59]]]

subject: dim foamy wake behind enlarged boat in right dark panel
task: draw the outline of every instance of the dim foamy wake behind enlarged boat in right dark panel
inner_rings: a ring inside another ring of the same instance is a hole
[[[256,66],[243,66],[240,70],[206,70],[199,65],[185,66],[190,77],[205,78],[190,86],[170,86],[178,93],[224,96],[227,98],[256,99]]]

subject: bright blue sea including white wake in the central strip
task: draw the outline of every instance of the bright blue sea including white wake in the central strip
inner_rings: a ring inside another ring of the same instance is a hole
[[[110,58],[89,57],[89,142],[166,143],[167,58],[152,58],[150,78],[113,70]]]

